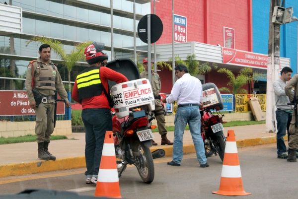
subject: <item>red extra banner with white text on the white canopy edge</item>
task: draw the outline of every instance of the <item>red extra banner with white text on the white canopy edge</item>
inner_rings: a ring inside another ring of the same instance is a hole
[[[267,68],[268,56],[230,48],[222,48],[223,63],[237,64],[257,68]]]

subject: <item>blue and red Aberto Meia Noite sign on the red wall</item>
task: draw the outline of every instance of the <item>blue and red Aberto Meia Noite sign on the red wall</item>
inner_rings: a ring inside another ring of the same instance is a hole
[[[174,14],[174,42],[187,42],[186,16]]]

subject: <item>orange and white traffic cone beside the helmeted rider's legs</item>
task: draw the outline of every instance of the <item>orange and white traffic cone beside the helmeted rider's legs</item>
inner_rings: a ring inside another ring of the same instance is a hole
[[[113,133],[107,131],[104,137],[95,194],[96,197],[121,199],[116,165]]]

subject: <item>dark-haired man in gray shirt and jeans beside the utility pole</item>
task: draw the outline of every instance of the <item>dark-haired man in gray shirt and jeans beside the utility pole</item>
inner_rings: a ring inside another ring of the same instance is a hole
[[[289,126],[292,118],[292,105],[289,97],[285,93],[286,82],[291,79],[293,70],[290,67],[284,67],[281,71],[281,76],[273,83],[275,93],[275,105],[276,105],[276,121],[277,121],[277,158],[287,159],[287,147],[284,141],[286,130],[289,133]]]

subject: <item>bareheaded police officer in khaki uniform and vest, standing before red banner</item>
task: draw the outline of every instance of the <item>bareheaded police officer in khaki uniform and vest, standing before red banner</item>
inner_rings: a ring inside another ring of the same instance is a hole
[[[28,65],[26,90],[30,107],[35,109],[36,114],[35,133],[38,143],[38,158],[56,160],[56,157],[48,151],[50,137],[54,131],[55,92],[58,91],[67,107],[70,107],[70,102],[58,69],[50,60],[50,45],[41,45],[39,55],[37,60],[31,61]]]

